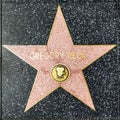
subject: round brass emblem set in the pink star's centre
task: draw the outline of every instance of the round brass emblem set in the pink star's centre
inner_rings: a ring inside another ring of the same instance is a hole
[[[58,64],[58,65],[55,65],[53,68],[52,68],[52,78],[57,81],[57,82],[63,82],[65,81],[68,76],[69,76],[69,70],[68,68],[63,65],[63,64]]]

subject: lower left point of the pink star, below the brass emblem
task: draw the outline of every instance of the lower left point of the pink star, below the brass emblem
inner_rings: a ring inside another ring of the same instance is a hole
[[[59,84],[51,80],[49,73],[38,71],[25,111],[56,90]]]

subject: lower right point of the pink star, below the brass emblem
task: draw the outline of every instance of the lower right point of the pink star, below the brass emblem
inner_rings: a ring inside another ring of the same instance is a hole
[[[70,94],[74,95],[79,100],[83,101],[84,104],[90,106],[93,110],[95,107],[92,102],[92,98],[89,93],[89,89],[84,78],[84,75],[81,72],[71,74],[68,81],[65,81],[61,84],[61,87],[65,89]]]

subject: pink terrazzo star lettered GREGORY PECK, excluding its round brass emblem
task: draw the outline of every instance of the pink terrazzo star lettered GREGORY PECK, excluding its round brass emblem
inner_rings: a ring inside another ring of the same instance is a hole
[[[47,45],[5,45],[4,47],[37,69],[25,111],[58,87],[62,87],[95,110],[82,70],[115,45],[73,45],[61,8],[58,6]],[[51,68],[59,63],[66,65],[70,70],[68,79],[61,83],[51,77]]]

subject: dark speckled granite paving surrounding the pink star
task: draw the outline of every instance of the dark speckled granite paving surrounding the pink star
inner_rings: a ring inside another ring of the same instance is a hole
[[[117,44],[84,70],[96,112],[59,88],[24,113],[37,71],[3,47],[2,119],[120,119],[117,0],[3,0],[3,45],[46,44],[57,3],[62,7],[74,44]]]

